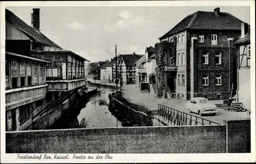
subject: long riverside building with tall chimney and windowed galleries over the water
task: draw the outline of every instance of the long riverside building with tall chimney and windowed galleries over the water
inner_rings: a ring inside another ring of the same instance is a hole
[[[84,61],[40,31],[39,9],[28,25],[6,14],[6,130],[31,129],[37,115],[61,94],[85,84]]]

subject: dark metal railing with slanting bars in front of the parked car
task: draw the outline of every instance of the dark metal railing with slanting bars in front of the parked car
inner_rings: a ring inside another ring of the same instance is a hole
[[[220,125],[219,123],[190,115],[174,108],[158,104],[158,115],[174,125]]]

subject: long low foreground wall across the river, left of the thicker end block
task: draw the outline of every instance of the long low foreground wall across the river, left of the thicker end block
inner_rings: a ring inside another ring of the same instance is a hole
[[[225,153],[225,129],[224,125],[159,126],[7,133],[6,152]]]

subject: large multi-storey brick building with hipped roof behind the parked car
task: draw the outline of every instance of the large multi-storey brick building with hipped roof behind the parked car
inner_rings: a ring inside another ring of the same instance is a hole
[[[230,97],[237,88],[236,56],[229,53],[230,44],[241,35],[242,22],[220,8],[197,11],[161,36],[160,41],[177,39],[176,56],[167,58],[171,61],[165,69],[165,91],[181,99]]]

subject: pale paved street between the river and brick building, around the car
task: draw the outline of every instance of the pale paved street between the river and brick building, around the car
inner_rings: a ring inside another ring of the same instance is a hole
[[[177,100],[177,99],[164,99],[157,98],[155,95],[151,93],[141,93],[139,88],[136,88],[135,85],[124,85],[123,86],[123,97],[129,100],[132,103],[145,106],[147,108],[158,108],[158,104],[162,104],[168,107],[172,107],[175,110],[179,110],[184,113],[188,113],[186,110],[185,104],[188,101],[185,100]],[[222,103],[223,101],[214,100],[209,101],[209,103]],[[229,112],[225,111],[223,108],[218,108],[219,112],[216,116],[202,116],[202,118],[210,121],[214,121],[217,123],[223,123],[223,119],[232,119],[232,118],[250,118],[246,112]],[[197,114],[191,114],[197,117],[200,117]],[[160,118],[161,119],[161,118]],[[162,120],[162,119],[161,119]]]

